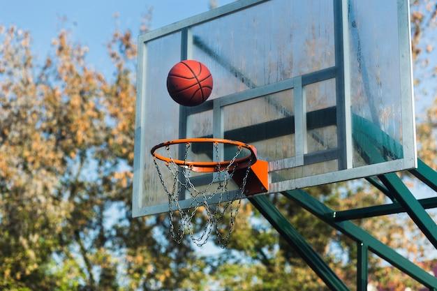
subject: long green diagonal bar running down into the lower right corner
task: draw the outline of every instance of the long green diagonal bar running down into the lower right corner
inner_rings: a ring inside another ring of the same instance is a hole
[[[378,241],[378,239],[372,237],[365,230],[362,230],[361,227],[358,227],[350,221],[334,221],[332,219],[332,214],[334,211],[305,191],[295,190],[281,193],[290,200],[295,201],[314,216],[334,227],[336,230],[346,234],[351,239],[354,239],[357,242],[362,241],[364,244],[369,246],[369,249],[373,253],[378,255],[380,258],[383,258],[387,262],[390,262],[390,264],[392,264],[394,267],[427,286],[427,288],[437,288],[436,277],[428,274],[427,271],[424,271],[413,262],[410,262],[410,260],[404,258],[402,255],[399,255],[399,253],[394,251],[392,248]]]

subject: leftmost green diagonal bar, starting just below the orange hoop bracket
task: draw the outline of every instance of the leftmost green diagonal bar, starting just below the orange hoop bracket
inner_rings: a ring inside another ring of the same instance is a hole
[[[346,285],[336,276],[334,271],[320,258],[320,255],[311,248],[297,230],[290,224],[281,212],[274,206],[266,196],[249,197],[251,203],[260,211],[269,223],[286,239],[288,244],[299,253],[306,264],[325,282],[331,290],[349,290]]]

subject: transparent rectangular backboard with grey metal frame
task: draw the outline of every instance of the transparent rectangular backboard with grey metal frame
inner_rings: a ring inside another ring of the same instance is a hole
[[[269,193],[416,167],[408,7],[240,0],[141,35],[133,216],[168,211],[150,149],[177,138],[253,144],[269,164]],[[202,105],[168,95],[168,71],[183,59],[214,77]],[[210,151],[193,147],[190,158],[211,160]]]

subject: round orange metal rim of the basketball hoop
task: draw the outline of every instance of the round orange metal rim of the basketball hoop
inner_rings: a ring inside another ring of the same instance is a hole
[[[251,151],[251,154],[248,156],[245,156],[244,158],[237,158],[232,163],[235,165],[237,169],[249,167],[250,165],[253,165],[253,163],[256,162],[256,148],[253,147],[251,144],[245,144],[244,142],[238,142],[236,140],[224,140],[221,138],[202,138],[202,137],[196,137],[196,138],[183,138],[179,140],[170,140],[168,142],[163,142],[161,144],[156,144],[151,150],[150,154],[157,158],[158,160],[161,160],[165,163],[175,163],[176,165],[179,165],[181,167],[186,167],[187,169],[193,171],[193,172],[218,172],[221,170],[224,170],[226,167],[230,165],[232,161],[222,161],[222,162],[191,162],[191,161],[182,161],[178,159],[172,159],[168,158],[166,156],[162,156],[160,154],[156,153],[157,149],[160,149],[161,147],[168,147],[172,144],[189,144],[189,143],[218,143],[218,144],[231,144],[235,145],[236,147],[243,147],[244,149],[249,149]],[[230,170],[233,170],[234,167],[231,166]]]

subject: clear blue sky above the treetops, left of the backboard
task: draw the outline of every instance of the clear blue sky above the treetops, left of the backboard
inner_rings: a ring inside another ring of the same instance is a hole
[[[108,70],[105,44],[115,27],[138,34],[141,17],[153,9],[151,29],[183,20],[208,10],[208,0],[15,0],[1,1],[0,24],[31,32],[38,60],[50,51],[52,38],[60,29],[71,30],[75,41],[89,47],[88,60],[98,70]],[[232,0],[218,0],[218,5]],[[118,20],[114,19],[118,13]]]

